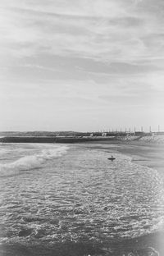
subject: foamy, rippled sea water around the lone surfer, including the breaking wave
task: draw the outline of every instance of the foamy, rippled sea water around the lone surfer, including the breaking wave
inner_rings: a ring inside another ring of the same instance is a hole
[[[160,231],[162,177],[122,153],[110,162],[111,153],[89,144],[1,144],[1,245],[96,245]]]

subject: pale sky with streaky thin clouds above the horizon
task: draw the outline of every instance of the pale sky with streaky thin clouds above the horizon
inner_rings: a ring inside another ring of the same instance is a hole
[[[1,0],[0,130],[164,130],[163,0]]]

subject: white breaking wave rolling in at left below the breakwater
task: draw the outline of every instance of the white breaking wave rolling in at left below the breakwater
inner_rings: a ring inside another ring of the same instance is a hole
[[[2,163],[0,164],[0,176],[16,175],[20,171],[39,168],[48,160],[62,157],[67,149],[67,146],[56,146],[55,148],[50,149],[46,148],[41,150],[41,152],[33,152],[33,154],[30,153],[30,155],[25,155],[14,162]]]

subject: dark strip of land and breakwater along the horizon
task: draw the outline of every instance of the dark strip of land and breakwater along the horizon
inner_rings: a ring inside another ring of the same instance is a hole
[[[80,143],[103,142],[123,144],[164,144],[164,132],[76,132],[76,131],[4,131],[0,132],[2,143]]]

